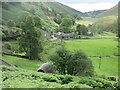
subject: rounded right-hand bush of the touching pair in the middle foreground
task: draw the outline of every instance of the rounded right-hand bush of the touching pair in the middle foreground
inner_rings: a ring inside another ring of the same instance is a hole
[[[92,76],[92,62],[82,51],[75,51],[67,62],[67,71],[71,75]]]

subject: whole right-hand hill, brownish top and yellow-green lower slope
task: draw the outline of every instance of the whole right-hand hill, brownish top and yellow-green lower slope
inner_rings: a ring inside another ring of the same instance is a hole
[[[94,32],[118,33],[118,5],[98,14],[96,18],[97,20],[92,24]]]

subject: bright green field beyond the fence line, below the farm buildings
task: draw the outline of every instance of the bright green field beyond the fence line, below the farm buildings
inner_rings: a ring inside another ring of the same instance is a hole
[[[118,42],[113,39],[66,40],[65,42],[67,49],[72,51],[81,49],[88,56],[111,56],[118,51]]]

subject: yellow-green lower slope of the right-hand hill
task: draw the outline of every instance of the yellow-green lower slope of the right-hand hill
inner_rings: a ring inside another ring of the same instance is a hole
[[[107,16],[98,19],[96,22],[94,22],[91,26],[89,26],[89,30],[101,34],[104,31],[106,32],[113,32],[118,33],[117,29],[117,17],[116,16]]]

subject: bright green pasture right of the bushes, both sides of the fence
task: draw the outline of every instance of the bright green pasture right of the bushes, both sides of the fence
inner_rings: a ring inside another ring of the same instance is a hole
[[[71,51],[82,50],[89,57],[98,75],[118,75],[118,42],[113,39],[66,40],[65,47]],[[97,57],[92,57],[97,56]],[[99,69],[99,56],[101,68]]]

